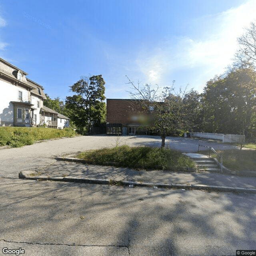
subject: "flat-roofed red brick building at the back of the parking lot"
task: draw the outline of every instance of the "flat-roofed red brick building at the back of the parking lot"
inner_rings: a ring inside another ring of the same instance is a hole
[[[151,119],[140,100],[107,99],[107,134],[147,134]]]

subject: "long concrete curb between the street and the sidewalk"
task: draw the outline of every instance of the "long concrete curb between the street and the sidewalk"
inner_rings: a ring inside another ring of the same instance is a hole
[[[254,193],[256,194],[256,189],[254,188],[234,188],[234,187],[224,187],[224,186],[209,186],[203,184],[197,185],[187,185],[187,184],[164,184],[164,183],[154,183],[154,182],[134,182],[129,180],[106,180],[106,179],[88,179],[88,178],[78,178],[76,176],[66,176],[66,177],[49,177],[49,176],[30,176],[30,171],[21,171],[19,173],[19,178],[26,180],[52,180],[52,181],[62,181],[62,182],[77,182],[77,183],[87,183],[87,184],[103,184],[103,185],[123,185],[123,186],[138,186],[138,187],[150,187],[150,188],[171,188],[171,189],[182,189],[182,190],[207,190],[207,191],[220,191],[220,192],[236,192],[236,193]]]

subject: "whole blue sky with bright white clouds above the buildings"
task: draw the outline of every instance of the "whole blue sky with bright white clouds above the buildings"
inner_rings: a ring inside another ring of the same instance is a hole
[[[130,98],[126,76],[202,92],[255,13],[255,0],[0,0],[0,57],[52,99],[98,74],[106,98]]]

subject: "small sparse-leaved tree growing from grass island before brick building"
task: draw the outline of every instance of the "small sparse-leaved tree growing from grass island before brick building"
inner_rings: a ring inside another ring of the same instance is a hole
[[[184,128],[186,112],[183,108],[183,98],[186,92],[180,90],[180,93],[175,93],[173,88],[175,81],[171,87],[165,87],[159,92],[158,86],[154,89],[149,84],[135,85],[129,78],[128,80],[132,89],[131,98],[139,100],[144,112],[152,116],[152,124],[148,128],[160,134],[161,147],[164,147],[168,133]]]

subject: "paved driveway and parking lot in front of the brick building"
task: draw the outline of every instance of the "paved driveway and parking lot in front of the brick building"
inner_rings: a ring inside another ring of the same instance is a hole
[[[160,136],[77,136],[45,140],[22,148],[3,149],[0,150],[0,177],[17,178],[21,170],[34,170],[36,167],[42,168],[56,163],[56,156],[122,144],[160,147],[161,138]],[[198,144],[211,146],[214,149],[235,148],[232,145],[215,141],[166,137],[166,146],[185,153],[197,152]]]

